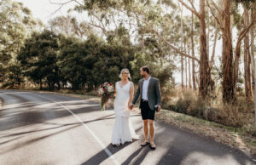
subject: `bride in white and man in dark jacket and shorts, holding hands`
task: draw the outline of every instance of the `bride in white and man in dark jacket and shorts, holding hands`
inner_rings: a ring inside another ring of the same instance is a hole
[[[120,72],[121,81],[115,84],[115,99],[113,109],[115,122],[113,126],[112,145],[119,146],[125,142],[132,142],[132,139],[139,139],[129,120],[130,111],[133,109],[137,100],[140,99],[141,114],[143,118],[144,140],[142,146],[149,145],[155,150],[154,144],[154,114],[160,111],[160,82],[157,78],[150,76],[148,66],[140,69],[143,77],[139,83],[137,92],[134,95],[134,85],[129,81],[130,71],[123,69]],[[133,97],[134,96],[134,97]],[[148,134],[150,139],[148,138]]]

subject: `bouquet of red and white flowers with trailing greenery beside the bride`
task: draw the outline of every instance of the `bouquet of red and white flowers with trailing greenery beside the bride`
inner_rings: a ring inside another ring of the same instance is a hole
[[[101,101],[101,110],[105,110],[108,100],[113,94],[113,84],[112,83],[103,83],[98,89],[98,94],[102,97]]]

